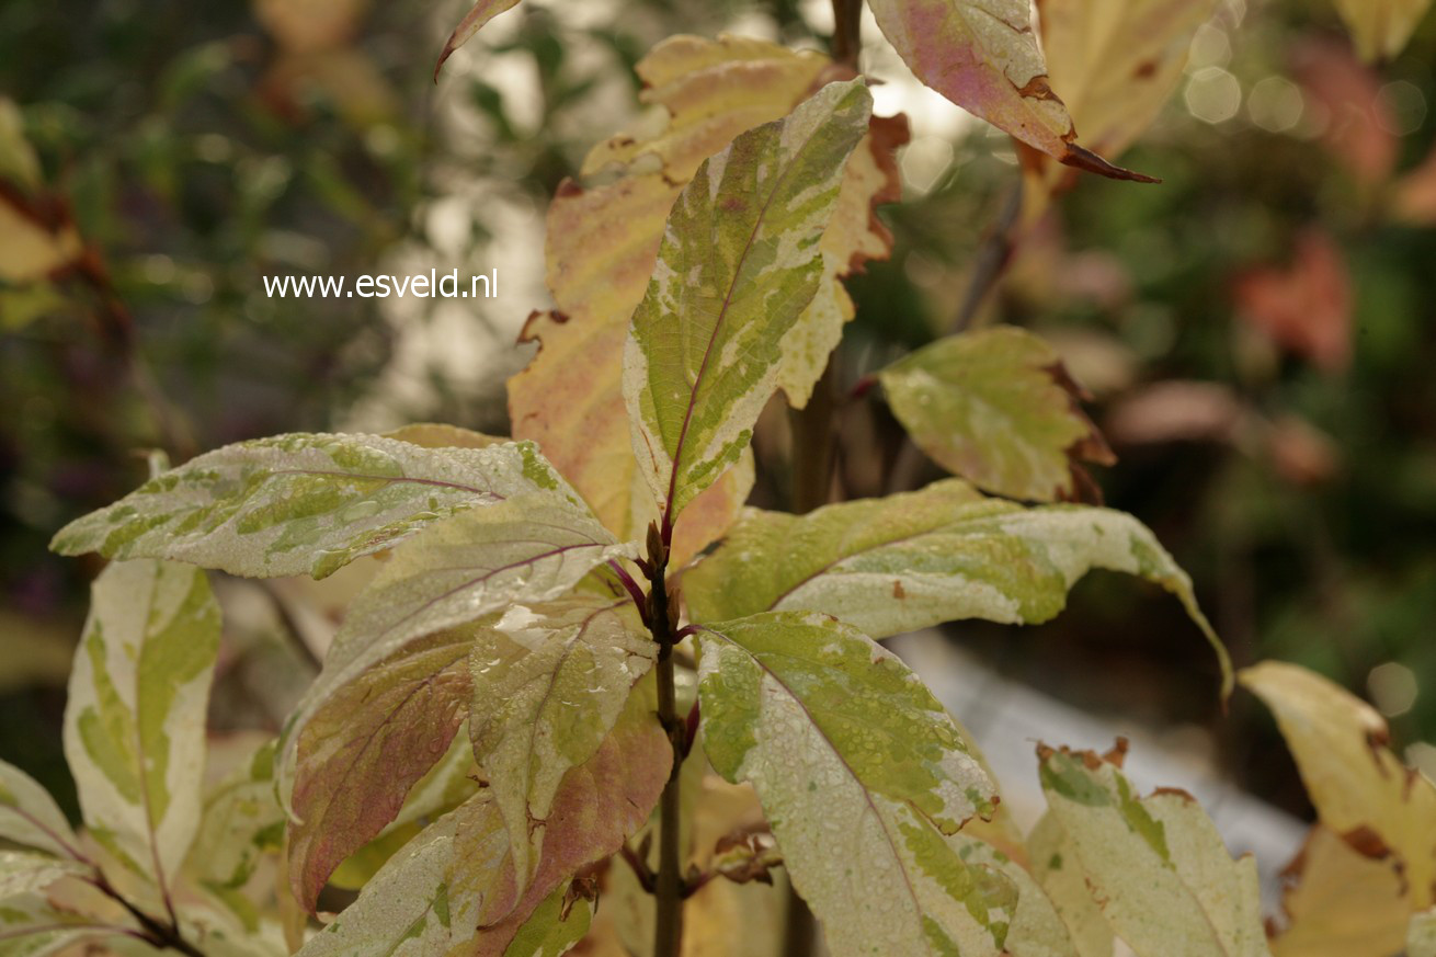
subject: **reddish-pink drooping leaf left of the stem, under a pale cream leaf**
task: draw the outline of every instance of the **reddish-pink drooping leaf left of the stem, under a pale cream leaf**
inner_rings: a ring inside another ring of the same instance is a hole
[[[289,874],[307,910],[444,757],[468,711],[471,644],[467,628],[414,642],[339,688],[302,729]]]

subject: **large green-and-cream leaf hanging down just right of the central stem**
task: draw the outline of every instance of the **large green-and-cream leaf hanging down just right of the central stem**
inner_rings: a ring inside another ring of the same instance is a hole
[[[945,838],[991,815],[962,731],[895,655],[814,614],[698,632],[704,750],[750,782],[834,957],[997,954],[1015,905]]]

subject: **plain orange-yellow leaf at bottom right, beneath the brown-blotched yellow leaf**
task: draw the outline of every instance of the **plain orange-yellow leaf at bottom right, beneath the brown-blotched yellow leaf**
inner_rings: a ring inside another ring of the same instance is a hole
[[[1402,950],[1412,905],[1391,866],[1317,825],[1281,874],[1284,928],[1275,957],[1390,957]]]

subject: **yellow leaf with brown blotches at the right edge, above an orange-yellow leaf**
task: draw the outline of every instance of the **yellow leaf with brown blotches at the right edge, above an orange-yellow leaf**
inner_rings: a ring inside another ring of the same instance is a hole
[[[1323,826],[1394,868],[1412,911],[1436,904],[1436,785],[1390,752],[1386,720],[1300,665],[1264,661],[1238,677],[1277,716]]]

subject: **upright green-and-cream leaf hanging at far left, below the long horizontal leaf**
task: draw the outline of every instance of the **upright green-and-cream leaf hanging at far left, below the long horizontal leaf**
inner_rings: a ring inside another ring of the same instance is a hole
[[[90,835],[159,888],[200,826],[220,606],[200,569],[115,562],[70,674],[65,757]]]

